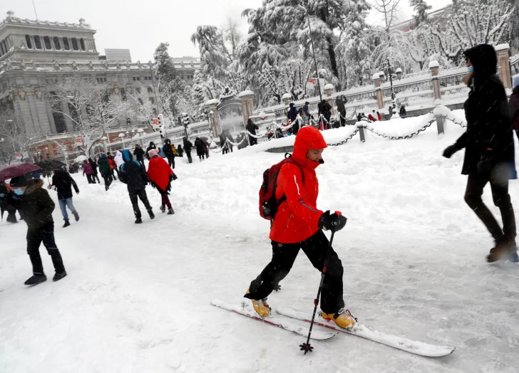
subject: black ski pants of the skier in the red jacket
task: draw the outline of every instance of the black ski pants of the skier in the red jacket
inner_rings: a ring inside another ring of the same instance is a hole
[[[287,277],[299,249],[309,258],[314,268],[322,272],[327,255],[329,241],[324,232],[319,230],[314,236],[298,243],[278,243],[272,241],[272,261],[262,273],[250,283],[250,293],[245,295],[249,299],[264,299],[272,293],[274,287]],[[342,268],[341,260],[333,248],[329,251],[327,273],[321,293],[321,309],[327,313],[336,313],[344,308],[342,299]],[[317,283],[315,284],[317,290]]]

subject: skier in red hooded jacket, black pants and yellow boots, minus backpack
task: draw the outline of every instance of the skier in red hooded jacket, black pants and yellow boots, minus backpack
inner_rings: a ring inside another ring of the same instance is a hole
[[[265,317],[270,308],[267,296],[287,276],[302,249],[314,268],[322,271],[329,250],[327,272],[321,294],[323,317],[344,328],[354,326],[354,319],[344,311],[342,299],[343,268],[339,256],[322,229],[339,231],[346,225],[340,213],[330,214],[317,209],[319,183],[315,169],[324,163],[323,149],[327,147],[319,130],[303,127],[294,143],[293,162],[283,164],[277,175],[275,197],[280,201],[272,221],[272,261],[250,283],[245,298],[252,300],[256,312]],[[295,162],[295,163],[294,163]]]

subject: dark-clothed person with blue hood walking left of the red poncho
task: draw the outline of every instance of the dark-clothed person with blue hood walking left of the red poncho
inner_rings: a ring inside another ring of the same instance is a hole
[[[129,150],[123,150],[123,161],[119,168],[119,179],[121,182],[127,185],[128,194],[130,201],[133,206],[133,213],[135,214],[135,224],[141,224],[143,222],[142,214],[140,214],[138,198],[143,202],[150,219],[155,219],[155,214],[148,201],[148,195],[146,195],[146,185],[148,185],[148,175],[146,174],[145,167],[139,162],[133,160],[132,154]]]

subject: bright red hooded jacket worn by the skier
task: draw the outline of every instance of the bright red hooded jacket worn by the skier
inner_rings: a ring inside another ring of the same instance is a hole
[[[270,239],[279,243],[297,243],[313,236],[319,230],[319,218],[323,214],[317,209],[319,182],[315,169],[319,162],[307,159],[310,148],[324,149],[327,143],[321,132],[314,127],[303,127],[297,133],[292,158],[295,164],[284,164],[277,175],[276,198],[286,196],[279,205],[270,229]]]

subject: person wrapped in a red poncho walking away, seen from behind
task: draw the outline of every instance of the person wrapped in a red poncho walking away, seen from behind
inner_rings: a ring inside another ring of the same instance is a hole
[[[176,179],[175,173],[165,160],[158,155],[156,149],[151,149],[149,154],[150,164],[148,165],[148,179],[150,179],[151,186],[158,190],[162,198],[162,205],[160,211],[165,212],[168,206],[168,215],[175,214],[171,206],[168,195],[171,191],[171,182]]]

